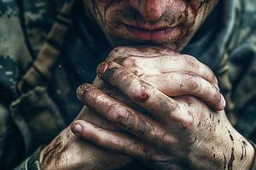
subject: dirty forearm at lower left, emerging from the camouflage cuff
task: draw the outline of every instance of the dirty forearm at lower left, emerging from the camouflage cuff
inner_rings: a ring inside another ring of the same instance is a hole
[[[103,150],[80,139],[70,131],[70,127],[46,146],[39,158],[40,166],[44,170],[118,169],[130,161],[128,156]]]

